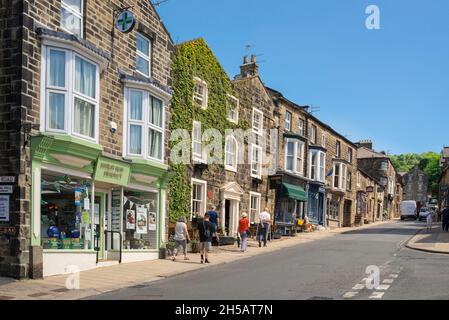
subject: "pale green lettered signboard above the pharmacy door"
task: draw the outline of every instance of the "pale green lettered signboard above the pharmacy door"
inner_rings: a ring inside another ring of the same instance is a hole
[[[95,180],[112,183],[118,186],[127,186],[131,167],[123,162],[100,157],[95,167]]]

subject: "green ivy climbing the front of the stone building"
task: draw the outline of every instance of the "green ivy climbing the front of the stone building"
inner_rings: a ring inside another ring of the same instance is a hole
[[[185,129],[191,134],[193,120],[196,120],[201,122],[203,132],[212,128],[219,130],[224,141],[226,129],[249,128],[245,119],[242,119],[238,126],[228,121],[227,94],[236,94],[232,90],[228,75],[203,39],[177,46],[172,73],[174,92],[170,130]],[[207,83],[206,110],[193,103],[194,77]],[[172,142],[171,147],[175,144],[176,142]],[[172,165],[172,168],[175,177],[169,184],[169,218],[171,222],[175,222],[181,216],[190,216],[191,185],[187,175],[189,168],[186,165],[176,164]]]

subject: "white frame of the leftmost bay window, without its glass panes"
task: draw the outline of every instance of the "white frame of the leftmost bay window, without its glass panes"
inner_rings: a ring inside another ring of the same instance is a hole
[[[50,51],[61,51],[65,53],[65,87],[55,87],[50,86]],[[76,57],[79,57],[88,63],[91,63],[95,66],[95,98],[86,96],[80,92],[75,90],[75,60]],[[93,61],[92,59],[79,54],[70,46],[65,45],[44,45],[42,46],[42,65],[41,70],[41,83],[43,84],[41,87],[41,96],[44,97],[41,99],[41,119],[42,121],[41,130],[45,132],[55,132],[55,133],[63,133],[67,135],[71,135],[83,140],[87,140],[90,142],[98,143],[99,141],[99,115],[100,115],[100,65]],[[49,121],[49,93],[60,93],[65,95],[64,99],[64,129],[52,129],[50,128]],[[80,98],[83,101],[86,101],[90,104],[94,105],[94,137],[84,136],[74,131],[74,122],[75,122],[75,97]]]

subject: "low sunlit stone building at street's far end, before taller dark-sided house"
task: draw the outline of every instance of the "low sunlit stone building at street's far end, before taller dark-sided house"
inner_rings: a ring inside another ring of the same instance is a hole
[[[357,213],[355,224],[369,224],[382,220],[384,187],[362,169],[357,170]]]

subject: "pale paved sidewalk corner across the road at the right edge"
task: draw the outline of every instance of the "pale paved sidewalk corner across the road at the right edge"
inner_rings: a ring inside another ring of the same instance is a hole
[[[443,232],[441,225],[434,224],[432,232],[423,228],[406,246],[414,250],[449,254],[449,232]]]

